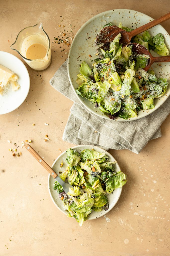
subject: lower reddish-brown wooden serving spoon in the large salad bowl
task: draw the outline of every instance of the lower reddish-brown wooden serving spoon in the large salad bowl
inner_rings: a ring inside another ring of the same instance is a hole
[[[153,57],[145,46],[136,43],[131,43],[129,45],[132,45],[133,52],[136,52],[137,54],[145,54],[150,56],[150,58],[148,59],[148,65],[145,68],[143,68],[145,71],[148,71],[154,62],[170,62],[170,56]]]

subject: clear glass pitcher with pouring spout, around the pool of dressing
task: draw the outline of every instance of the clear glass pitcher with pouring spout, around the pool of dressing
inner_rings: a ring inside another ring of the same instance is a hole
[[[27,50],[33,44],[41,44],[46,47],[47,52],[45,57],[40,59],[27,58],[27,55],[26,55]],[[47,33],[44,31],[42,23],[38,23],[34,26],[30,26],[22,29],[19,32],[14,44],[12,44],[10,47],[12,50],[17,51],[32,69],[44,70],[50,65],[50,62],[51,62],[50,39]]]

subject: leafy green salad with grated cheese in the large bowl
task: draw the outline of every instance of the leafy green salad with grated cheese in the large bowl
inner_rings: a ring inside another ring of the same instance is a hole
[[[133,30],[122,24],[119,27]],[[111,119],[117,116],[133,118],[140,110],[153,109],[154,99],[160,98],[168,87],[167,79],[156,77],[153,70],[143,70],[149,56],[133,52],[132,45],[123,47],[120,39],[121,33],[110,43],[108,50],[98,49],[99,58],[95,59],[92,69],[83,61],[76,80],[79,85],[77,94],[95,103],[95,107]],[[145,31],[142,36],[135,36],[132,42],[161,56],[169,55],[161,33],[151,37]]]

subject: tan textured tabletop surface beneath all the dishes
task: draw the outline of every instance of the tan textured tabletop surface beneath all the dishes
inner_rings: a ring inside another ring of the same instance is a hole
[[[28,97],[19,109],[0,116],[1,256],[169,255],[170,117],[161,126],[162,137],[150,141],[139,155],[128,150],[110,151],[129,180],[114,209],[106,217],[86,221],[81,228],[51,201],[48,174],[40,164],[24,148],[20,157],[13,157],[8,150],[14,143],[21,146],[23,140],[31,139],[31,145],[52,165],[60,154],[58,149],[63,152],[73,146],[62,141],[72,102],[49,85],[67,58],[69,46],[52,44],[53,38],[64,29],[74,37],[89,18],[116,8],[134,9],[157,18],[170,11],[170,2],[0,1],[0,50],[20,58],[10,45],[22,28],[42,22],[51,40],[53,58],[50,68],[42,72],[26,64],[31,79]],[[170,33],[169,21],[162,25]],[[46,133],[48,142],[44,142]]]

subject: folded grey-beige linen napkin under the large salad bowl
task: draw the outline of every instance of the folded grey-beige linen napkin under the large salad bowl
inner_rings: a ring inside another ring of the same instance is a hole
[[[170,113],[170,98],[160,108],[144,118],[129,122],[116,122],[100,118],[82,105],[70,85],[67,60],[51,78],[50,84],[74,101],[64,129],[64,141],[78,145],[98,145],[106,150],[127,148],[139,154],[149,140],[162,136],[160,126]]]

